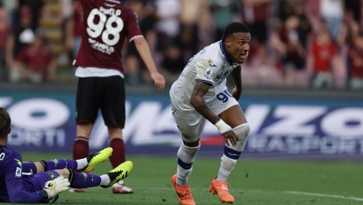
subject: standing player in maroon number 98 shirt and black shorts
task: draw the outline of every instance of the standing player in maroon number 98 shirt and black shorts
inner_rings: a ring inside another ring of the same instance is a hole
[[[109,131],[113,167],[125,161],[122,129],[125,120],[124,68],[122,45],[125,37],[133,41],[146,64],[157,89],[164,89],[164,77],[157,72],[151,52],[140,31],[137,16],[118,0],[81,0],[83,7],[83,39],[74,60],[77,66],[76,99],[77,136],[73,146],[74,160],[89,154],[89,136],[98,109]],[[74,190],[83,192],[84,190]],[[119,182],[113,193],[133,193]]]

